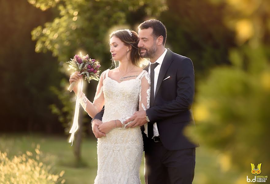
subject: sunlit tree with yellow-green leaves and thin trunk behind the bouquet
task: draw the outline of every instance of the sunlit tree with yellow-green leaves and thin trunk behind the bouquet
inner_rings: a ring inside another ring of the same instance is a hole
[[[158,1],[118,1],[118,0],[28,0],[33,6],[41,10],[48,8],[57,8],[59,16],[52,22],[47,22],[43,26],[38,26],[32,31],[32,39],[37,40],[36,52],[51,51],[53,56],[57,56],[61,65],[61,71],[70,74],[67,71],[68,65],[65,63],[69,58],[78,52],[89,54],[91,58],[98,60],[106,70],[109,61],[108,35],[114,29],[134,28],[136,22],[141,22],[145,16],[157,16],[160,12],[166,10],[167,6],[164,0]],[[136,16],[140,15],[140,16]],[[68,81],[68,80],[67,80]],[[95,89],[96,82],[91,82],[88,89]],[[62,94],[67,93],[66,89],[60,89]],[[95,90],[91,90],[90,95],[94,96]],[[66,97],[70,95],[66,95]],[[63,105],[68,98],[61,98]],[[62,109],[52,105],[54,112],[60,114]],[[68,119],[67,119],[68,118]],[[70,117],[66,117],[66,122],[71,122]],[[79,122],[82,127],[82,122]],[[70,127],[70,126],[69,126]],[[78,139],[81,131],[75,136],[76,146],[75,157],[80,160],[79,149],[81,140]],[[77,140],[76,140],[77,137]]]

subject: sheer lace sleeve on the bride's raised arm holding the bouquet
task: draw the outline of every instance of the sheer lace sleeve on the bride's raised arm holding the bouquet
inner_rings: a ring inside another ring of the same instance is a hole
[[[103,80],[105,79],[105,73],[106,71],[102,72],[99,78],[93,103],[86,98],[86,95],[84,93],[80,98],[80,104],[82,105],[83,109],[88,113],[88,115],[92,118],[94,118],[95,115],[102,110],[102,107],[104,105]]]

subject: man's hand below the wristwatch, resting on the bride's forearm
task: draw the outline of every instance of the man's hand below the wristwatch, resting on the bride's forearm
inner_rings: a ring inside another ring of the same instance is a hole
[[[125,128],[135,128],[137,126],[144,125],[145,123],[147,123],[146,111],[141,110],[141,111],[135,112],[133,116],[127,119],[126,121],[124,121],[123,124],[127,124],[129,121],[132,121],[132,122],[129,125],[127,125]]]

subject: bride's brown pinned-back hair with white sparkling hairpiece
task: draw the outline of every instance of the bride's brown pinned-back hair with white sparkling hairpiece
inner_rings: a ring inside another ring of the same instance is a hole
[[[130,36],[131,34],[131,36]],[[120,29],[112,32],[110,34],[110,39],[115,36],[119,38],[126,46],[131,46],[130,48],[130,58],[133,65],[137,67],[143,67],[141,64],[146,64],[146,59],[141,58],[138,52],[138,34],[135,31],[129,29]],[[114,61],[114,58],[112,58]],[[115,61],[114,61],[115,62]]]

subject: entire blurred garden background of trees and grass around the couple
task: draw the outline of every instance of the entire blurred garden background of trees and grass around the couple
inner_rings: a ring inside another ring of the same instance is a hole
[[[148,19],[166,48],[192,59],[195,184],[244,184],[251,165],[270,175],[270,1],[0,0],[0,183],[93,183],[91,117],[68,143],[75,94],[66,63],[82,52],[111,66],[109,34]],[[97,81],[85,82],[93,100]],[[109,156],[109,155],[108,155]],[[141,180],[143,179],[143,163]]]

